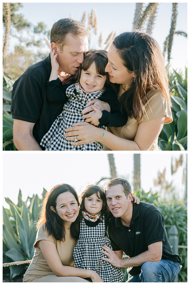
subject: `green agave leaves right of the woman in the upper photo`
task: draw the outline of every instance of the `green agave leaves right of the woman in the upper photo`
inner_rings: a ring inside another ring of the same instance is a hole
[[[169,76],[173,122],[164,125],[158,138],[161,150],[187,150],[187,68],[185,79],[173,70]]]

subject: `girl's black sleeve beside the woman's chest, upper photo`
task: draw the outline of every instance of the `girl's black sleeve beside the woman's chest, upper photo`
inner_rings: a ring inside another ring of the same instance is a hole
[[[117,96],[107,88],[106,91],[98,98],[101,101],[107,102],[110,105],[111,113],[106,110],[102,111],[102,117],[99,119],[99,126],[105,127],[122,127],[127,123],[127,115],[123,115],[117,109]]]

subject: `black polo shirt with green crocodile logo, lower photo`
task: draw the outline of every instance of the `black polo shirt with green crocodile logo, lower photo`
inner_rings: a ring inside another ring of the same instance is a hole
[[[132,219],[129,227],[122,225],[120,218],[111,217],[108,225],[108,237],[114,251],[122,250],[129,257],[134,257],[148,250],[148,245],[162,241],[162,258],[181,262],[173,254],[169,244],[164,218],[154,205],[140,202],[133,203]],[[129,267],[131,275],[141,273],[141,265]]]

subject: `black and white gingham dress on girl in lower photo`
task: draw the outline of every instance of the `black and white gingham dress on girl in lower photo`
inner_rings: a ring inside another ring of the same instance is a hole
[[[105,237],[105,220],[96,227],[88,227],[85,224],[85,219],[82,219],[79,239],[73,253],[75,267],[94,270],[104,282],[123,281],[121,268],[101,259],[101,257],[107,258],[101,252],[103,245],[112,249],[110,240]]]

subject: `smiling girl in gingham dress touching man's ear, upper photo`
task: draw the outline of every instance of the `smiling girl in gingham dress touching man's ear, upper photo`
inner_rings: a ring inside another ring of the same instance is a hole
[[[56,58],[57,54],[54,55],[54,50],[51,50],[52,72],[47,82],[47,97],[51,103],[64,102],[64,109],[40,144],[46,148],[45,150],[102,150],[101,141],[74,147],[64,135],[65,130],[74,123],[86,121],[101,128],[103,139],[105,126],[120,127],[126,123],[126,115],[117,111],[117,96],[113,93],[111,88],[113,84],[109,82],[108,74],[105,72],[108,62],[107,52],[105,50],[85,52],[84,61],[76,75],[67,78],[64,85],[58,78],[59,64]],[[93,112],[82,116],[81,112],[87,102],[97,98],[109,103],[111,113],[106,110],[100,111],[93,106]],[[80,137],[75,137],[75,141],[79,139]]]

